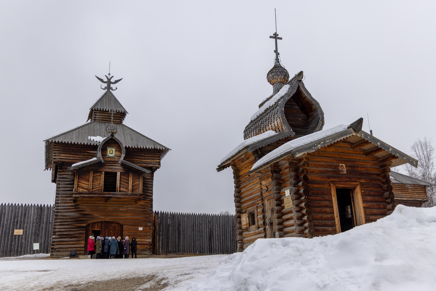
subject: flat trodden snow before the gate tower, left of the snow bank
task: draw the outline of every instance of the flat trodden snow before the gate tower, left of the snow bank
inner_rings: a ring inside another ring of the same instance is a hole
[[[206,277],[227,255],[181,257],[173,259],[112,260],[0,260],[0,290],[53,290],[68,284],[96,280],[157,275],[169,286],[164,290],[186,290]]]

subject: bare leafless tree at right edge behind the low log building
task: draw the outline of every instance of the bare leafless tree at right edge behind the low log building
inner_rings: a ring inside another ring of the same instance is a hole
[[[435,148],[433,147],[433,140],[424,137],[413,142],[410,150],[412,151],[412,157],[416,158],[418,168],[405,164],[396,171],[405,172],[405,174],[412,176],[413,178],[426,181],[431,184],[436,183],[436,165],[435,165]],[[396,169],[395,168],[395,169]],[[395,171],[394,169],[394,171]],[[427,187],[428,201],[422,204],[423,207],[433,207],[436,205],[436,186]]]

